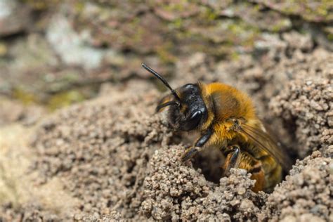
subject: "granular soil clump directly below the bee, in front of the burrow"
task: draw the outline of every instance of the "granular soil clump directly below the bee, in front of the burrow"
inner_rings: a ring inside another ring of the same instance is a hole
[[[183,146],[155,151],[145,178],[141,211],[155,220],[254,220],[265,195],[252,192],[247,171],[235,169],[219,184],[207,181],[192,164],[181,164]]]

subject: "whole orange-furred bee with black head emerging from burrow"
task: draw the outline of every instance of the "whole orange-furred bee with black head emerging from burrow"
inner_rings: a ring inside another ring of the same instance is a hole
[[[161,74],[144,63],[142,66],[171,91],[160,100],[157,112],[169,107],[167,117],[174,129],[200,133],[181,161],[188,161],[205,148],[216,147],[226,157],[224,175],[231,168],[246,169],[256,181],[254,192],[273,191],[292,162],[267,133],[247,94],[219,82],[197,82],[172,89]]]

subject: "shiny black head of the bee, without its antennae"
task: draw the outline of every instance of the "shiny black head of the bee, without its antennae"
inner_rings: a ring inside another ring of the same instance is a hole
[[[190,131],[207,120],[207,107],[198,84],[186,84],[177,89],[180,105],[169,108],[169,122],[175,129]]]

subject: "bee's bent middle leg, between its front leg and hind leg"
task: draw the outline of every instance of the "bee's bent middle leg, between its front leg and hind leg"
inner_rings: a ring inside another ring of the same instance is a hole
[[[226,162],[224,162],[222,168],[224,169],[223,174],[227,175],[231,168],[238,168],[240,163],[240,146],[228,146],[224,151],[224,155],[226,155]]]

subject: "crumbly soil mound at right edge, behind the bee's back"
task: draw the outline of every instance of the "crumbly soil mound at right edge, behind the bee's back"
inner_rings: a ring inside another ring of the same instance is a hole
[[[270,103],[275,115],[294,124],[301,157],[333,144],[332,60],[332,53],[318,49],[289,61],[286,70],[297,74]]]

